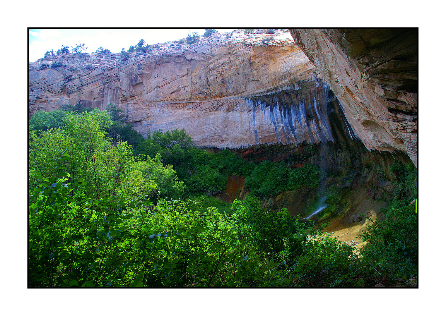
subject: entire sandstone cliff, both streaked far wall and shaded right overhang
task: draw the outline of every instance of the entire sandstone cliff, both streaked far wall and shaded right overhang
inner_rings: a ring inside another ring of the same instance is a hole
[[[163,43],[126,61],[113,53],[42,58],[29,63],[29,115],[113,103],[143,136],[178,127],[198,146],[240,148],[333,141],[335,103],[350,139],[406,152],[416,164],[413,34],[363,31],[292,29],[305,53],[288,32],[266,43],[269,34],[239,30],[228,39]]]

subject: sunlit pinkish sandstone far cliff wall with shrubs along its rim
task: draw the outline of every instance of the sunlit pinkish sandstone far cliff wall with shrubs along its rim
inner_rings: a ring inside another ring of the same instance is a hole
[[[144,136],[185,128],[197,145],[218,148],[332,140],[327,85],[288,32],[262,42],[269,36],[240,30],[193,45],[168,42],[127,61],[118,54],[42,58],[29,65],[29,113],[113,103]]]

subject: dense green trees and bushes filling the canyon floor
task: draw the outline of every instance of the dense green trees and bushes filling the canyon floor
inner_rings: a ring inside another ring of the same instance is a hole
[[[405,192],[415,173],[395,168]],[[215,197],[231,174],[246,177],[251,196],[227,205]],[[184,130],[144,139],[112,104],[37,112],[29,121],[28,286],[351,287],[416,275],[416,214],[405,200],[368,230],[362,257],[323,227],[264,207],[264,198],[314,188],[322,176],[314,165],[211,154]]]

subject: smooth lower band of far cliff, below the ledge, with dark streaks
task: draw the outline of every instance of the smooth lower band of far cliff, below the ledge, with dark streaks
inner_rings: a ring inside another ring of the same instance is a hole
[[[153,104],[154,119],[133,126],[142,133],[185,128],[198,146],[216,148],[333,141],[328,86],[312,81],[298,88],[250,98]]]

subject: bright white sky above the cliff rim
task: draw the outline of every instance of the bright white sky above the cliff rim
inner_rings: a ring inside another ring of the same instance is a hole
[[[234,29],[216,29],[219,33],[231,32]],[[203,35],[204,29],[29,29],[29,62],[43,58],[46,51],[60,49],[62,45],[70,47],[76,43],[85,43],[87,53],[93,53],[100,46],[110,49],[112,53],[120,53],[130,45],[136,45],[141,38],[146,44],[175,41],[198,32]]]

